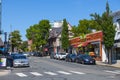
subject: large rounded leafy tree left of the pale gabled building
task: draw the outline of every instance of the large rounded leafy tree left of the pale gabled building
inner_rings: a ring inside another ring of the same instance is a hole
[[[34,50],[39,51],[41,46],[43,47],[47,43],[50,28],[49,20],[41,20],[38,24],[30,26],[26,30],[26,37],[32,40],[32,48]]]

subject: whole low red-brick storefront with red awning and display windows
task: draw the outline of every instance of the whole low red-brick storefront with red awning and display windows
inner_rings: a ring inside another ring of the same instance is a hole
[[[102,58],[106,57],[103,51],[103,33],[102,31],[87,34],[86,37],[81,39],[81,37],[76,37],[70,40],[70,44],[80,50],[82,53],[89,54],[93,56],[97,61],[104,61]],[[78,51],[77,51],[78,52]]]

